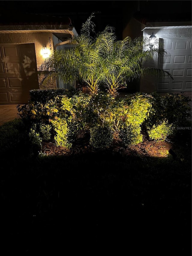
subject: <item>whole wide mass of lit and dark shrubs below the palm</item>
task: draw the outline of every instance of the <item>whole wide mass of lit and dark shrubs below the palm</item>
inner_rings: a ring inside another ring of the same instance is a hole
[[[40,133],[42,140],[49,141],[55,136],[55,142],[60,146],[71,148],[80,131],[103,133],[95,131],[97,126],[119,132],[124,145],[129,146],[142,141],[140,127],[155,140],[173,135],[170,131],[172,126],[169,125],[177,127],[184,124],[190,115],[189,100],[182,93],[165,96],[156,92],[151,95],[135,93],[124,99],[113,98],[106,92],[99,92],[97,95],[78,93],[71,98],[68,95],[56,96],[54,100],[46,100],[44,104],[29,102],[26,106],[18,107],[18,111],[29,128],[34,123],[37,124],[39,128],[36,132]],[[52,130],[49,126],[51,122]],[[41,127],[42,124],[44,125]],[[95,138],[96,135],[92,135],[91,143],[96,148],[102,148],[99,143],[102,144],[103,141],[98,138],[96,142]],[[106,143],[103,147],[109,144]]]

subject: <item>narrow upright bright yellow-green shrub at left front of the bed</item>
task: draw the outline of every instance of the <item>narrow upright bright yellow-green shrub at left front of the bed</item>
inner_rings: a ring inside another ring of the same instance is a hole
[[[64,119],[55,118],[54,120],[50,120],[55,128],[55,143],[57,146],[63,146],[67,148],[71,148],[72,143],[69,143],[67,140],[67,122]]]

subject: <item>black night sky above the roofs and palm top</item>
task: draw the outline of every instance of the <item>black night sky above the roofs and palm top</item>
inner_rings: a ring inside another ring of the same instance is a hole
[[[134,14],[139,14],[149,21],[191,21],[192,1],[126,1],[126,0],[64,0],[64,1],[1,1],[0,14],[9,12],[22,20],[22,13],[41,14],[46,19],[52,15],[69,17],[77,33],[92,12],[95,14],[96,32],[113,26],[118,39],[122,39],[122,30]]]

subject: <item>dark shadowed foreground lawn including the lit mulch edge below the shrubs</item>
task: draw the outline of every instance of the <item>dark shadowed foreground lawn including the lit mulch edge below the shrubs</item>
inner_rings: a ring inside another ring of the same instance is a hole
[[[2,255],[191,255],[188,137],[35,156],[19,122],[0,127]]]

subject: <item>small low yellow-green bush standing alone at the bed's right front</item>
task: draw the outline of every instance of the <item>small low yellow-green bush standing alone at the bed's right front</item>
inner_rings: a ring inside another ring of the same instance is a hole
[[[174,126],[172,124],[168,124],[165,120],[159,125],[153,125],[153,127],[147,131],[149,138],[154,140],[165,140],[168,135],[171,135],[174,132]]]

